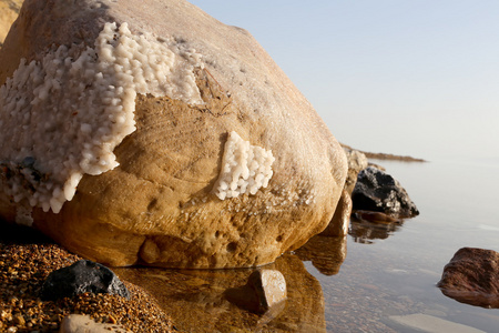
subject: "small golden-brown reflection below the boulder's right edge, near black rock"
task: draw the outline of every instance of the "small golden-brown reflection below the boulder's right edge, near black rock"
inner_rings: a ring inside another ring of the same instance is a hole
[[[346,236],[330,238],[316,235],[295,251],[295,254],[303,261],[312,261],[314,268],[325,275],[334,275],[339,272],[339,268],[347,254]]]

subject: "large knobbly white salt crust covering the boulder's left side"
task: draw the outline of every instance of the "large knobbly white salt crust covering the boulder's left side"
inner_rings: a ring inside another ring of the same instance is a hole
[[[83,174],[119,165],[113,153],[135,131],[138,93],[202,103],[195,50],[105,23],[94,49],[59,47],[19,68],[0,88],[0,165],[6,192],[58,213]],[[29,203],[29,205],[28,205]],[[26,220],[26,219],[23,219]]]

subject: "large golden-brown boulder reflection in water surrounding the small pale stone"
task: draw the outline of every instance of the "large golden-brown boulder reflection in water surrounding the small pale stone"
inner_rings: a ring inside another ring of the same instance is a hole
[[[319,282],[296,255],[284,254],[265,269],[279,271],[287,284],[281,312],[253,314],[230,303],[224,292],[244,285],[255,270],[113,269],[120,279],[150,292],[182,332],[326,332]]]

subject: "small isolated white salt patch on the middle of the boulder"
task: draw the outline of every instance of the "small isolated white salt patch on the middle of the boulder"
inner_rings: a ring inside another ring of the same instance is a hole
[[[222,171],[215,184],[218,199],[236,198],[240,194],[255,194],[266,188],[272,178],[272,150],[251,145],[232,131],[225,142]]]

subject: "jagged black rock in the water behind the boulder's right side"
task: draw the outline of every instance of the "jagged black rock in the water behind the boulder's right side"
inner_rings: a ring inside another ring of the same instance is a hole
[[[352,193],[354,210],[383,212],[394,218],[414,218],[419,214],[400,183],[388,173],[373,167],[359,172]]]

